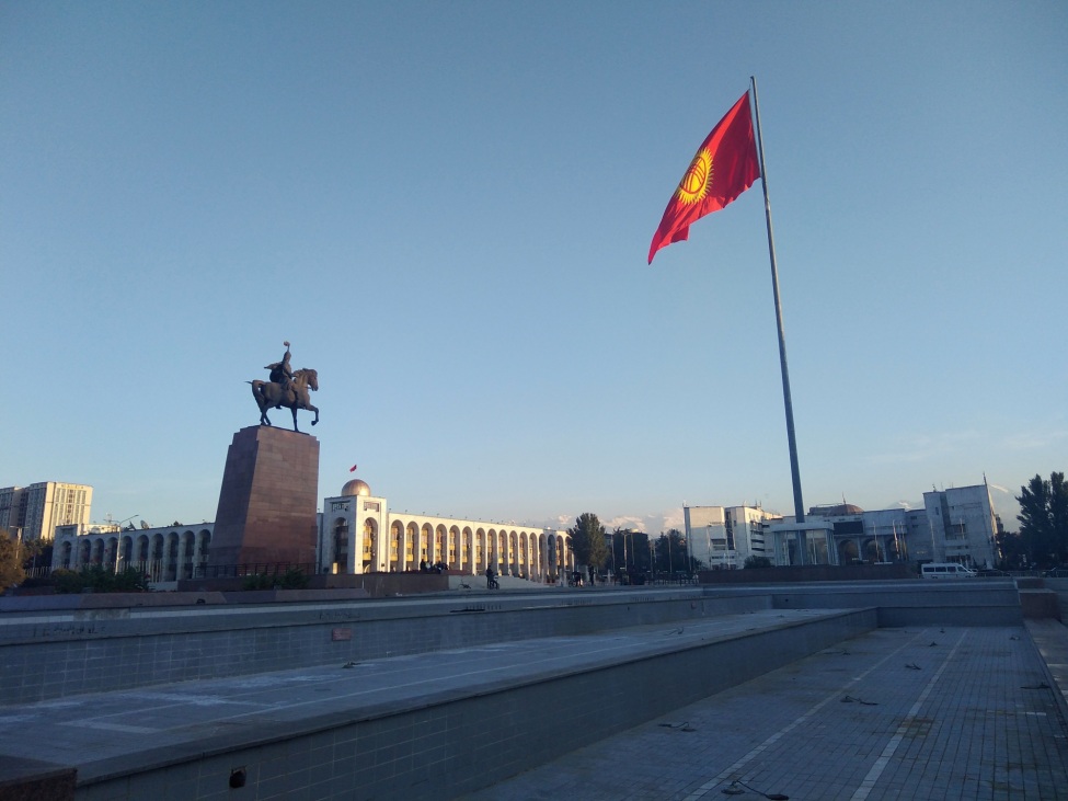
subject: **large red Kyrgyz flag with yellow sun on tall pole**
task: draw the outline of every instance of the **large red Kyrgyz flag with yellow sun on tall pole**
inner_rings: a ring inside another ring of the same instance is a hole
[[[648,263],[661,248],[689,239],[692,222],[733,203],[758,178],[760,162],[746,92],[698,148],[653,234]]]

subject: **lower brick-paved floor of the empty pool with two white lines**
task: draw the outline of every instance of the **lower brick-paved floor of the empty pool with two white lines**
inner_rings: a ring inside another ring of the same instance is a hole
[[[1023,628],[878,629],[466,798],[1068,799],[1053,684]]]

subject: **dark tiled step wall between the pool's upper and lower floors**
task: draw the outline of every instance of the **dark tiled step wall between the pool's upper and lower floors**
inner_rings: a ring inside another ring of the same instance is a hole
[[[461,697],[421,698],[407,708],[329,723],[279,720],[256,743],[207,737],[196,751],[161,749],[162,767],[92,777],[83,798],[159,798],[188,787],[229,798],[240,766],[262,796],[387,801],[452,799],[692,703],[875,628],[872,609],[755,631],[656,655],[520,683],[487,683]],[[710,666],[714,665],[714,670]],[[521,722],[521,724],[520,724]],[[314,730],[309,730],[309,729]],[[90,796],[90,793],[92,793]],[[191,797],[193,797],[191,794]]]

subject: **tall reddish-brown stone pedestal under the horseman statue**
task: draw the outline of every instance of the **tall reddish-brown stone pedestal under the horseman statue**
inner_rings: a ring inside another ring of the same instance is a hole
[[[227,451],[208,573],[233,565],[273,570],[279,562],[314,573],[318,502],[318,439],[269,426],[242,428]]]

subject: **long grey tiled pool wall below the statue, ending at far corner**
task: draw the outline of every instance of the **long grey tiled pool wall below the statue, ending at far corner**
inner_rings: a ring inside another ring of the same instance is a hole
[[[54,603],[55,597],[19,600]],[[768,608],[767,595],[713,598],[697,588],[240,606],[205,603],[162,609],[42,608],[0,616],[0,703]]]

